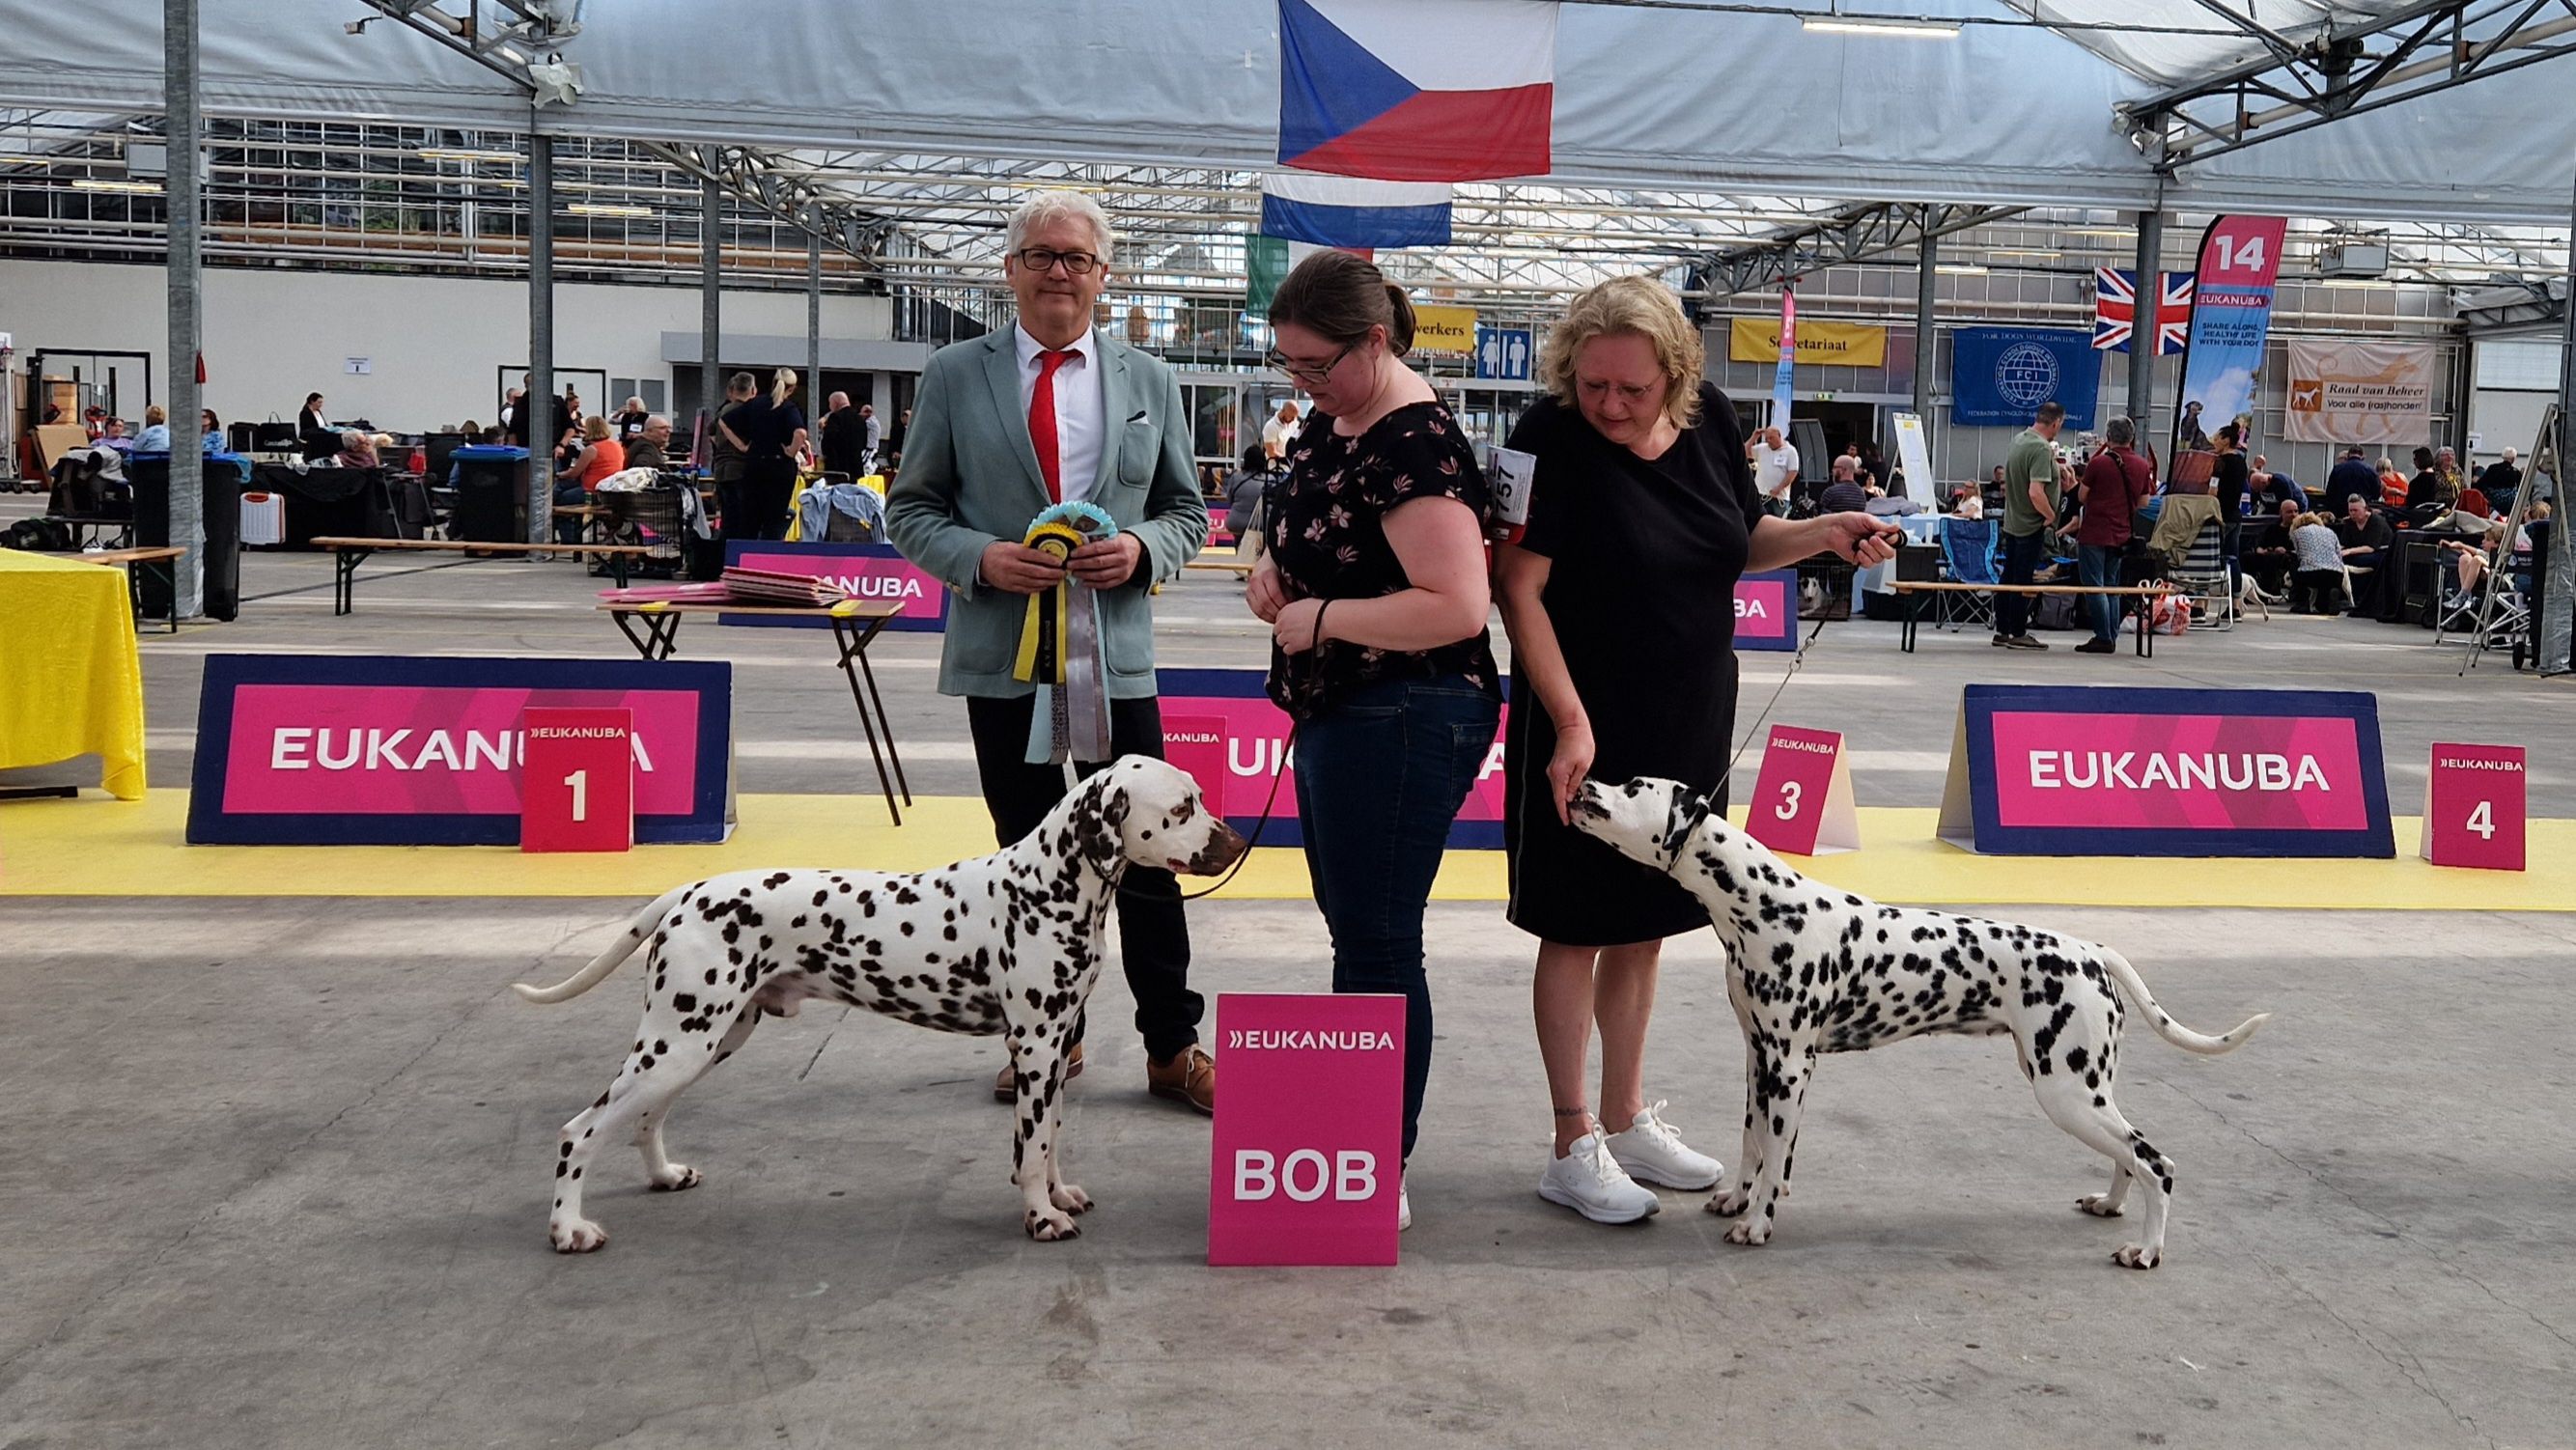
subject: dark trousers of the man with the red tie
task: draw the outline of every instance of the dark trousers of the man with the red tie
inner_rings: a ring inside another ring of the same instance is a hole
[[[1066,796],[1061,765],[1028,762],[1028,721],[1036,695],[966,698],[966,731],[974,737],[974,770],[984,783],[984,809],[992,834],[1010,845],[1038,829],[1046,811]],[[1162,701],[1110,701],[1110,752],[1162,760]],[[1082,775],[1103,770],[1105,760],[1079,765]],[[1154,1061],[1167,1061],[1198,1040],[1206,1004],[1190,992],[1190,922],[1180,912],[1180,881],[1170,871],[1128,865],[1118,881],[1118,948],[1126,958],[1128,992],[1136,994],[1136,1033]],[[1082,1030],[1074,1030],[1082,1040]]]

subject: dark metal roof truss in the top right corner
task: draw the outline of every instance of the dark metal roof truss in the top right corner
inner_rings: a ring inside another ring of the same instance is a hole
[[[2259,39],[2257,59],[2112,108],[2159,173],[2576,54],[2576,0],[2416,0],[2303,41]]]

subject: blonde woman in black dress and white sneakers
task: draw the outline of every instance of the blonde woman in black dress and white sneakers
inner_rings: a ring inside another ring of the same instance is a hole
[[[1651,278],[1582,296],[1540,358],[1548,399],[1512,430],[1535,458],[1530,518],[1497,561],[1512,631],[1515,701],[1504,731],[1510,919],[1535,935],[1533,1010],[1556,1110],[1540,1195],[1600,1223],[1656,1210],[1651,1190],[1710,1187],[1643,1092],[1646,1017],[1662,937],[1708,909],[1672,878],[1566,824],[1587,775],[1662,775],[1726,801],[1734,752],[1734,587],[1834,551],[1891,556],[1865,513],[1767,518],[1744,466],[1736,410],[1700,381],[1700,332]],[[1592,1025],[1602,1033],[1602,1110],[1584,1100]]]

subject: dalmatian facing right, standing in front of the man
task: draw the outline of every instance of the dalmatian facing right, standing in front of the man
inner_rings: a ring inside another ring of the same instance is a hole
[[[1007,1035],[1018,1082],[1012,1182],[1030,1239],[1079,1234],[1092,1198],[1064,1182],[1056,1149],[1064,1059],[1100,981],[1118,878],[1133,865],[1213,876],[1244,837],[1213,816],[1175,765],[1128,755],[1084,778],[1025,840],[992,855],[894,876],[876,871],[734,871],[665,891],[626,935],[528,1002],[567,1002],[639,945],[652,986],[626,1066],[564,1123],[546,1236],[587,1254],[608,1231],[582,1218],[582,1174],[616,1136],[644,1151],[652,1187],[698,1185],[662,1151],[672,1102],[734,1056],[762,1015],[806,997],[868,1007],[943,1033]]]

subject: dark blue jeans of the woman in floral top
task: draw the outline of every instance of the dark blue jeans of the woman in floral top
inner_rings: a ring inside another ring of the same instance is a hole
[[[1298,726],[1296,814],[1334,992],[1404,997],[1404,1156],[1432,1077],[1422,909],[1502,706],[1458,675],[1378,680]]]

